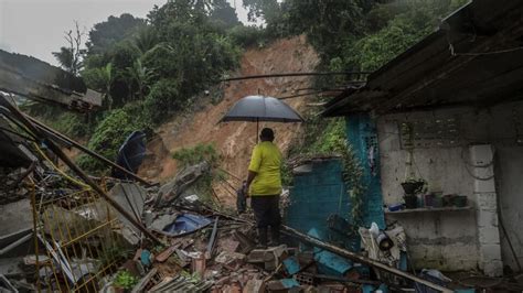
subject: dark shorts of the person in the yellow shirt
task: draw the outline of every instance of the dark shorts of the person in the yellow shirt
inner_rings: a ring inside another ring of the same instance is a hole
[[[252,196],[250,207],[254,210],[258,228],[280,225],[279,195]]]

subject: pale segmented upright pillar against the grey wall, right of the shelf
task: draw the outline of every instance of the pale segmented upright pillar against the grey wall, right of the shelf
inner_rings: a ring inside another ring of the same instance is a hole
[[[494,184],[494,154],[490,144],[471,145],[470,169],[474,175],[476,217],[480,251],[480,268],[484,274],[503,274],[501,241],[498,228],[498,198]]]

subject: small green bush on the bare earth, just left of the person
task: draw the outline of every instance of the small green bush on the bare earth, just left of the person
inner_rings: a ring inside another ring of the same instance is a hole
[[[199,143],[196,146],[175,151],[172,158],[182,166],[190,166],[206,161],[211,166],[215,166],[220,161],[220,154],[214,144]]]

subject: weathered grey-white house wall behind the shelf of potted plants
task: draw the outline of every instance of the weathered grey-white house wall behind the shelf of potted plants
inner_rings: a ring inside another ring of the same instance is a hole
[[[491,144],[495,155],[497,194],[501,202],[502,219],[523,262],[523,211],[520,211],[523,207],[523,144],[516,143],[515,127],[517,121],[523,122],[523,102],[485,110],[455,108],[380,117],[377,131],[384,203],[403,200],[399,183],[405,178],[407,152],[401,149],[397,121],[448,116],[459,118],[458,145],[416,149],[416,171],[429,183],[430,191],[467,195],[476,207],[474,178],[470,175],[471,167],[466,163],[470,160],[468,146]],[[523,126],[520,128],[523,138]],[[473,270],[482,267],[476,208],[452,213],[387,215],[387,219],[398,220],[405,227],[415,267],[440,270]],[[503,263],[516,269],[506,236],[501,230],[499,234]]]

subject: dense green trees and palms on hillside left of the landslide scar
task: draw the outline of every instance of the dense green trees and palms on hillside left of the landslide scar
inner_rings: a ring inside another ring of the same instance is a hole
[[[250,30],[257,32],[243,26],[225,0],[169,1],[152,8],[147,20],[109,17],[88,32],[86,51],[70,46],[54,53],[62,67],[104,94],[103,109],[87,116],[41,115],[67,134],[89,138],[89,149],[114,160],[134,130],[150,132],[236,68],[242,45],[254,42],[245,36]],[[71,36],[81,37],[81,32]],[[89,172],[105,171],[88,156],[78,163]]]

